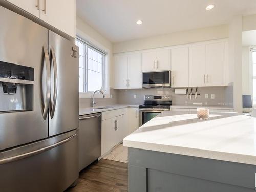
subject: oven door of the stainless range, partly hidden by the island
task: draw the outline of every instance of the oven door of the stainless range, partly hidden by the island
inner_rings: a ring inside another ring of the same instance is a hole
[[[156,117],[162,111],[166,109],[154,109],[154,108],[140,108],[139,109],[139,126],[142,126],[147,121],[150,121],[154,117]]]

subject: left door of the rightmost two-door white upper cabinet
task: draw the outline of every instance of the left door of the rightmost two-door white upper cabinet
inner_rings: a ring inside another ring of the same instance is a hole
[[[189,87],[205,86],[205,45],[189,47]]]

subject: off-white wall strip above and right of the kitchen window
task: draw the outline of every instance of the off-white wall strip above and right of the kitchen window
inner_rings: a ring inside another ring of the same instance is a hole
[[[89,41],[99,49],[108,52],[109,59],[109,85],[113,87],[113,45],[111,41],[102,36],[98,31],[93,29],[89,24],[84,22],[81,18],[76,17],[76,34]]]

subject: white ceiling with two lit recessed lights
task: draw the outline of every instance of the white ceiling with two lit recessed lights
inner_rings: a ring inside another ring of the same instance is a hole
[[[209,4],[215,8],[206,11]],[[228,24],[233,16],[256,14],[256,0],[76,0],[76,11],[109,40],[120,42]]]

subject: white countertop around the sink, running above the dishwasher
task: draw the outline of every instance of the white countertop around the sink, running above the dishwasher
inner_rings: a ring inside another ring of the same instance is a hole
[[[107,105],[107,106],[95,106],[94,108],[80,108],[79,115],[88,115],[88,114],[92,114],[92,113],[117,110],[117,109],[121,109],[121,108],[137,108],[138,106],[139,105],[113,104],[113,105]],[[98,109],[98,108],[104,108],[104,107],[109,107],[109,108]]]

